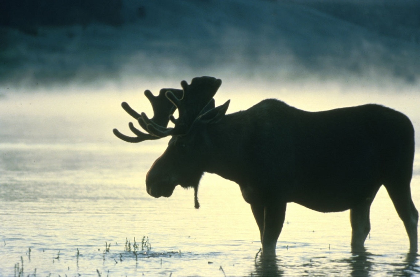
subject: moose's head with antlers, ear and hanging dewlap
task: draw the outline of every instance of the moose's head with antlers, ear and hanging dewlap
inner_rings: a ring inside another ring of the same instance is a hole
[[[150,90],[144,95],[152,104],[153,117],[149,119],[145,113],[137,113],[126,102],[121,106],[135,118],[146,131],[144,133],[129,123],[130,130],[136,137],[129,137],[113,129],[114,134],[126,142],[142,142],[172,136],[168,148],[147,172],[147,193],[156,198],[169,197],[177,185],[194,188],[195,208],[199,208],[198,185],[204,173],[205,128],[207,124],[218,122],[226,113],[228,100],[215,107],[213,96],[222,81],[213,77],[196,77],[191,84],[181,82],[182,90],[161,89],[154,96]],[[173,113],[178,109],[178,118]],[[174,127],[168,127],[171,121]]]

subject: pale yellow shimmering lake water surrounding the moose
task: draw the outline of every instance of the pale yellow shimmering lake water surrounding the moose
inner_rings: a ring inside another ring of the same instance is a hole
[[[156,92],[158,85],[141,88]],[[226,82],[216,101],[232,99],[228,112],[268,97],[308,110],[381,103],[409,115],[419,129],[420,96],[410,89],[399,94],[357,93],[334,85],[303,89],[279,92]],[[133,145],[113,137],[114,127],[128,129],[130,118],[119,106],[123,100],[150,113],[141,93],[113,88],[8,93],[0,99],[0,276],[420,274],[420,262],[407,256],[407,235],[383,189],[371,208],[366,253],[350,251],[348,211],[322,214],[291,203],[273,261],[257,255],[258,228],[236,184],[205,174],[199,210],[192,190],[177,187],[171,198],[150,197],[145,174],[167,139]],[[412,180],[417,208],[419,164],[417,154]],[[143,236],[150,249],[141,249]]]

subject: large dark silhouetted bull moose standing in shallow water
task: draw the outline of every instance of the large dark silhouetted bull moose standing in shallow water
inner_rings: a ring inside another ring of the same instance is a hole
[[[170,197],[177,185],[194,188],[199,208],[204,172],[236,182],[260,230],[262,254],[272,256],[289,202],[324,213],[350,210],[352,251],[364,251],[370,205],[383,185],[404,223],[409,253],[417,253],[418,212],[410,191],[415,141],[407,116],[376,104],[309,112],[275,99],[226,114],[230,100],[216,107],[213,99],[221,82],[204,76],[157,96],[146,90],[151,119],[122,103],[146,133],[130,122],[136,136],[113,129],[118,138],[171,136],[147,173],[147,193]]]

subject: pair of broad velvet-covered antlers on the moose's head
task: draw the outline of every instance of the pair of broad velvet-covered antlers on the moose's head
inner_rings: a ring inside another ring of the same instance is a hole
[[[153,96],[150,90],[146,90],[144,95],[149,99],[153,108],[152,119],[149,119],[145,113],[137,113],[125,102],[121,106],[127,113],[137,119],[140,126],[148,134],[136,129],[131,122],[129,127],[136,137],[123,135],[117,129],[113,129],[113,132],[118,138],[126,142],[142,142],[144,140],[156,140],[168,135],[186,134],[200,114],[215,107],[213,96],[221,84],[220,79],[203,76],[192,79],[191,84],[182,81],[182,90],[162,89],[158,96]],[[178,119],[172,116],[176,108],[178,108]],[[167,127],[169,120],[175,124],[175,127]]]

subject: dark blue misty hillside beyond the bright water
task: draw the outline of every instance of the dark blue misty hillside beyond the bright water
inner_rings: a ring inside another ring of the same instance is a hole
[[[202,74],[417,86],[419,46],[416,0],[0,2],[3,94]]]

